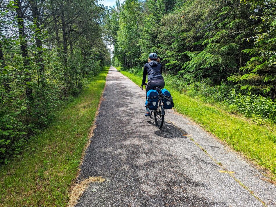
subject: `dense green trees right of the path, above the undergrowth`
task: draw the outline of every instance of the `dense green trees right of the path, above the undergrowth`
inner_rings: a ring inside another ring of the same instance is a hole
[[[156,52],[191,83],[225,81],[276,98],[275,1],[126,0],[110,15],[113,64],[142,67]]]

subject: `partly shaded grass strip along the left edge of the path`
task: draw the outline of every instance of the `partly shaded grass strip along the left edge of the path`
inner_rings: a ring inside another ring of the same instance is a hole
[[[28,142],[21,157],[0,167],[0,206],[66,206],[109,67]]]

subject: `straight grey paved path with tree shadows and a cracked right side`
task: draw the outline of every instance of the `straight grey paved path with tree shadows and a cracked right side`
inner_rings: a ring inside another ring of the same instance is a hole
[[[260,170],[173,110],[159,130],[144,103],[145,90],[111,67],[78,178],[107,181],[77,206],[276,206]]]

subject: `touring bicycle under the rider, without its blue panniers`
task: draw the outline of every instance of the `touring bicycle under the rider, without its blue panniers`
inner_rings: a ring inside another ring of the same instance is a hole
[[[145,86],[147,84],[144,84]],[[143,84],[141,85],[141,89],[143,90]],[[156,110],[150,110],[150,116],[152,113],[154,113],[154,119],[155,119],[155,124],[158,127],[158,129],[161,129],[164,123],[164,115],[165,115],[165,109],[164,109],[164,101],[163,101],[163,94],[161,92],[161,87],[160,86],[156,86],[153,88],[154,90],[156,90],[158,92],[158,107]]]

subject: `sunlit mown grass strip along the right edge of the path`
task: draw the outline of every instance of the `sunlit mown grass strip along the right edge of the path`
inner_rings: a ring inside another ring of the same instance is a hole
[[[141,85],[142,77],[126,71],[120,72],[137,85]],[[257,125],[243,117],[234,116],[215,106],[191,98],[174,90],[170,85],[165,87],[173,96],[176,111],[192,118],[220,140],[227,142],[232,149],[268,169],[271,172],[270,177],[275,180],[275,129]]]

